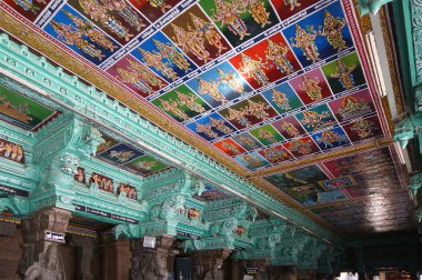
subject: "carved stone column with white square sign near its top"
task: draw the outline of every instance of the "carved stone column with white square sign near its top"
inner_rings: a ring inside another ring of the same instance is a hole
[[[130,241],[132,267],[129,279],[167,280],[169,271],[173,271],[173,262],[178,250],[172,250],[173,237],[157,237],[155,248],[144,248],[143,238]]]

